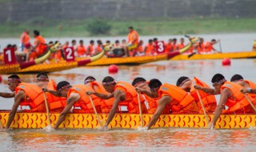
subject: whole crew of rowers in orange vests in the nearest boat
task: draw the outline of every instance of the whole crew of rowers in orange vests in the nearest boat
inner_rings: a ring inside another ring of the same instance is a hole
[[[140,110],[143,114],[154,114],[147,129],[158,121],[161,114],[202,114],[205,110],[208,114],[214,113],[210,127],[215,126],[220,114],[255,114],[256,84],[243,80],[239,74],[235,74],[231,82],[227,82],[222,74],[215,74],[211,80],[214,89],[198,78],[184,76],[178,78],[176,86],[144,78],[134,78],[132,84],[115,82],[110,76],[102,82],[89,76],[83,85],[71,86],[66,81],[56,85],[45,73],[38,74],[35,82],[21,82],[18,75],[8,78],[13,93],[0,93],[4,98],[14,97],[6,129],[10,128],[18,106],[30,106],[30,110],[24,112],[45,112],[47,106],[50,106],[51,113],[61,112],[54,129],[62,124],[72,107],[73,113],[94,113],[94,109],[99,113],[109,113],[104,128],[115,113],[122,112],[120,106],[126,106],[130,114],[139,114]],[[221,94],[218,105],[216,94]],[[146,107],[146,102],[149,107]],[[226,110],[225,106],[228,107]]]

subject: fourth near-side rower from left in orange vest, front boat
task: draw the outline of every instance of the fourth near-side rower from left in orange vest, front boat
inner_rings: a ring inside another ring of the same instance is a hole
[[[136,91],[145,93],[151,98],[159,98],[158,107],[149,124],[146,126],[150,129],[158,121],[160,115],[170,114],[198,114],[198,106],[194,98],[178,86],[165,83],[162,85],[158,79],[151,79],[149,82],[150,91],[137,87]]]

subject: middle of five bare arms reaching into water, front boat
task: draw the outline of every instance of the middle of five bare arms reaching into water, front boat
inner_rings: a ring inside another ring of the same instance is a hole
[[[114,91],[114,103],[113,103],[113,106],[110,110],[110,114],[106,119],[106,124],[104,126],[105,128],[107,128],[107,126],[110,124],[110,122],[114,118],[114,115],[115,115],[116,110],[118,108],[118,104],[119,104],[119,102],[121,101],[122,98],[126,98],[126,94],[122,90]]]

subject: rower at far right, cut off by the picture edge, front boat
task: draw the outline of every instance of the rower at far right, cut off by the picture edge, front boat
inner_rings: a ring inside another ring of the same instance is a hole
[[[256,89],[256,84],[254,82],[251,82],[250,80],[244,80],[242,78],[242,75],[240,74],[234,74],[233,77],[230,79],[230,82],[238,83],[243,87],[241,92],[247,93],[250,92],[252,89]],[[247,91],[249,90],[249,91]],[[256,94],[250,94],[252,98],[254,98],[254,105],[256,106]]]

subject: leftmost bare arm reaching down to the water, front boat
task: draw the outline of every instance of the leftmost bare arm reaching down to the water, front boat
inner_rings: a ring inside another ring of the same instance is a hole
[[[14,120],[15,114],[17,112],[19,103],[21,102],[22,98],[25,97],[25,92],[22,90],[19,90],[18,93],[15,95],[14,97],[14,105],[10,111],[9,117],[8,117],[8,121],[6,123],[6,130],[8,130],[10,128],[11,123]]]

